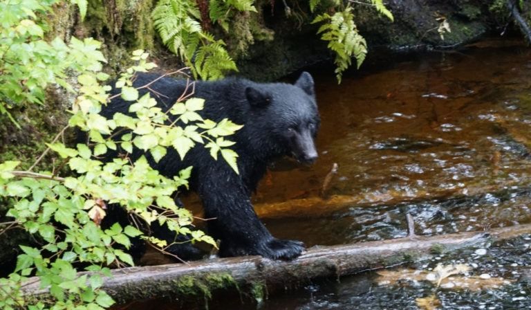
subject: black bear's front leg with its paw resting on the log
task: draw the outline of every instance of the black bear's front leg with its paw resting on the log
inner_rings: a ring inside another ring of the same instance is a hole
[[[213,178],[212,176],[219,176]],[[274,238],[258,219],[242,181],[234,174],[209,172],[200,176],[209,235],[221,239],[220,256],[262,255],[293,259],[301,255],[301,241]]]

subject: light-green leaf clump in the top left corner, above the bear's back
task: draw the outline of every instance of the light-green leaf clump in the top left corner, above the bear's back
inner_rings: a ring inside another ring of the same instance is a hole
[[[100,43],[93,39],[73,39],[65,44],[56,38],[44,40],[46,24],[38,17],[50,11],[56,0],[0,1],[0,114],[15,122],[9,112],[24,104],[42,104],[46,86],[59,84],[71,89],[66,71],[100,69],[104,61],[97,51]],[[86,0],[73,0],[80,8]]]

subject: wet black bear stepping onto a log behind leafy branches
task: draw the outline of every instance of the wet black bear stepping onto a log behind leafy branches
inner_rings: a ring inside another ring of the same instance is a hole
[[[140,74],[134,82],[139,87],[160,78],[160,75]],[[163,110],[185,93],[184,80],[160,78],[140,89],[140,95],[151,91]],[[190,189],[203,201],[208,233],[221,240],[219,254],[223,257],[262,255],[272,259],[292,259],[301,254],[300,241],[274,238],[258,219],[250,202],[266,167],[274,159],[288,155],[302,163],[317,158],[314,139],[319,128],[319,113],[315,100],[313,78],[302,73],[295,84],[256,83],[239,78],[215,82],[196,82],[193,97],[205,99],[204,119],[219,122],[228,118],[243,125],[230,137],[239,154],[239,174],[223,160],[215,161],[201,145],[187,153],[183,161],[177,152],[168,153],[151,166],[161,174],[172,177],[192,165]],[[101,114],[112,118],[114,113],[128,113],[129,104],[116,98]],[[138,156],[138,154],[133,156]],[[149,156],[147,156],[149,159]]]

